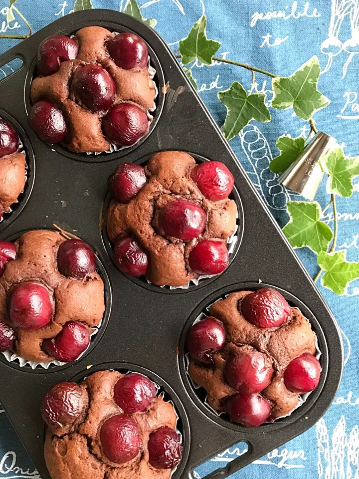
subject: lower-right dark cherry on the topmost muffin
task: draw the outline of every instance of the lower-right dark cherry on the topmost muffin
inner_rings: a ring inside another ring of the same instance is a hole
[[[149,119],[139,106],[120,103],[102,120],[102,129],[109,141],[121,146],[131,146],[146,135]]]

